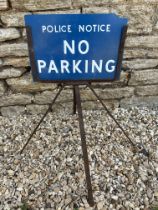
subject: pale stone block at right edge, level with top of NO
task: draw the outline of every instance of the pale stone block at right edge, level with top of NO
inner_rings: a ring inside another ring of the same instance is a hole
[[[125,42],[126,47],[158,48],[158,36],[128,36]]]

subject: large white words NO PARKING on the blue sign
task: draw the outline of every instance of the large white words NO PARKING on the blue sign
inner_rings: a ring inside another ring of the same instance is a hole
[[[77,46],[77,47],[76,47]],[[63,53],[64,54],[75,54],[76,50],[82,55],[89,52],[90,46],[87,40],[81,40],[77,44],[75,40],[72,40],[71,43],[68,43],[67,40],[63,40]],[[50,60],[49,63],[45,60],[37,60],[38,71],[41,74],[43,71],[47,70],[49,74],[51,73],[93,73],[96,72],[102,73],[106,71],[112,73],[115,71],[115,61],[114,60],[72,60],[71,62],[67,60],[60,60],[60,67],[57,67],[55,60]],[[82,68],[81,68],[82,66]],[[84,68],[83,68],[84,66]]]

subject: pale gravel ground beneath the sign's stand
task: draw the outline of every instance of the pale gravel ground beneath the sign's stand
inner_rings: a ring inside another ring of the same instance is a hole
[[[147,210],[157,202],[158,109],[113,111],[149,158],[132,152],[105,111],[84,111],[95,208],[86,199],[78,116],[70,112],[49,113],[22,155],[40,115],[0,116],[0,209]]]

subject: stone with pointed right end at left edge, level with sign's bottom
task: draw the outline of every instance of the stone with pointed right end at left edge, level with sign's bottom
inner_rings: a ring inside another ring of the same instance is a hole
[[[3,68],[0,70],[0,79],[7,79],[12,77],[20,77],[26,69],[16,69],[16,68]]]

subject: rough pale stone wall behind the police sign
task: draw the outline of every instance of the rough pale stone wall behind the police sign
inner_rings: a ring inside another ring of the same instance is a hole
[[[36,13],[116,13],[129,18],[121,80],[95,83],[108,106],[158,106],[158,0],[0,0],[0,112],[40,113],[56,93],[55,84],[33,83],[24,15]],[[100,108],[88,89],[83,107]],[[64,90],[58,103],[71,102]]]

